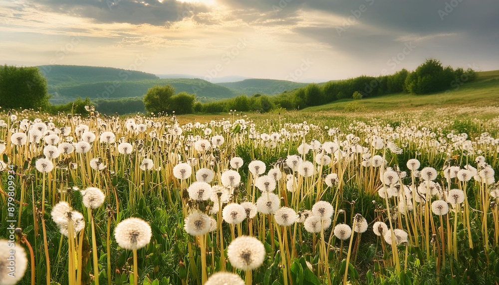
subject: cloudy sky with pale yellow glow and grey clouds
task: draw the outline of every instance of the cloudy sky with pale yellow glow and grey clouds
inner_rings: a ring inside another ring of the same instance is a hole
[[[0,0],[0,63],[325,81],[499,69],[497,0]]]

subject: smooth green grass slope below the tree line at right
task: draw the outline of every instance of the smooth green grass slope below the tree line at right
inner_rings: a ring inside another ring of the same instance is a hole
[[[396,93],[361,100],[342,99],[326,105],[303,109],[306,112],[345,111],[376,112],[408,110],[419,107],[491,106],[499,105],[499,70],[477,73],[472,82],[456,81],[444,92],[414,95]]]

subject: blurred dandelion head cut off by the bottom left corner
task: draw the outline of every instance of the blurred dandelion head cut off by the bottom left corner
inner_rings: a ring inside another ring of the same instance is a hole
[[[22,279],[27,268],[27,258],[24,248],[16,246],[7,240],[0,240],[0,284],[14,285]],[[15,261],[15,266],[12,266]]]

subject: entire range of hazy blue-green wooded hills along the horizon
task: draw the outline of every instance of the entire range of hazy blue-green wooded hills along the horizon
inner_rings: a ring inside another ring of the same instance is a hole
[[[47,79],[48,92],[52,95],[50,101],[54,104],[67,103],[77,97],[109,100],[142,97],[154,85],[166,84],[172,85],[177,92],[196,94],[202,102],[232,98],[241,94],[278,94],[306,85],[285,80],[248,79],[242,76],[214,78],[212,81],[227,80],[214,84],[188,74],[155,75],[111,67],[41,65],[38,68]]]

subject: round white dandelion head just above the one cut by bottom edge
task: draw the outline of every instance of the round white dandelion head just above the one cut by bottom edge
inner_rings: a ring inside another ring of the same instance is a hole
[[[265,247],[256,238],[242,236],[227,247],[227,257],[232,266],[241,270],[253,270],[265,260]]]

